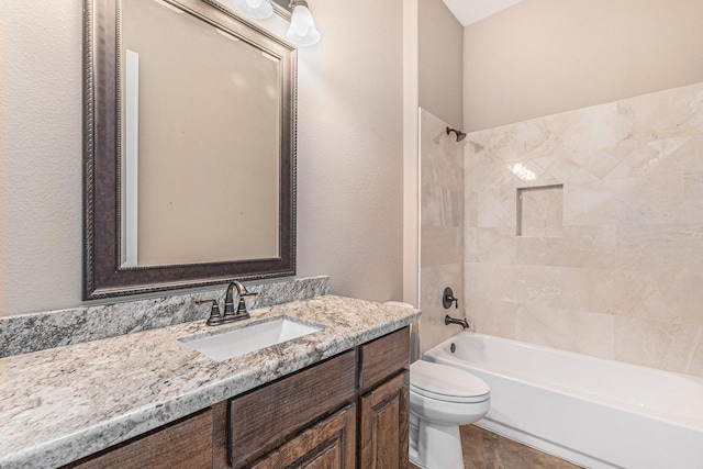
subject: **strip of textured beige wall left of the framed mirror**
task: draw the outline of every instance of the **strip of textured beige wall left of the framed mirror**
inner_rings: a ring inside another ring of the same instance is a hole
[[[81,3],[0,3],[3,315],[80,302]]]

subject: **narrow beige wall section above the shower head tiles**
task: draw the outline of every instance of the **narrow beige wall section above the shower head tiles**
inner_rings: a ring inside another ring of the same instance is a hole
[[[464,27],[442,0],[419,3],[420,107],[464,126]]]

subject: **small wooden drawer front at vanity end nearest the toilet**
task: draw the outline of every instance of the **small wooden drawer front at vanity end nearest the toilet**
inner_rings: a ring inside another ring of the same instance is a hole
[[[369,391],[410,365],[410,330],[403,327],[359,347],[359,389]]]

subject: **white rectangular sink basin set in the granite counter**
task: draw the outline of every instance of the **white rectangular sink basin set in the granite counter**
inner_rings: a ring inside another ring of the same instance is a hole
[[[198,336],[196,338],[186,337],[180,342],[215,361],[224,361],[228,358],[238,357],[271,345],[282,344],[317,331],[322,331],[322,327],[299,323],[290,317],[279,317],[222,334],[208,335],[200,338]]]

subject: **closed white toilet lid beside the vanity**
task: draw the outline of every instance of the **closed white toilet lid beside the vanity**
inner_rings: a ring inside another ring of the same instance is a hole
[[[417,360],[410,366],[410,389],[438,401],[482,402],[489,386],[478,377],[447,365]]]

